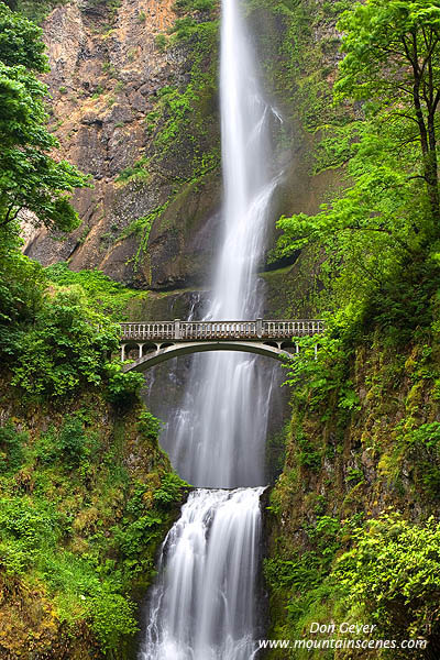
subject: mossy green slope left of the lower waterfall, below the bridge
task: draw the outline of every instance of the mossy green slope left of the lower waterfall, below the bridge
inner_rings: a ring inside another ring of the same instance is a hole
[[[134,657],[139,603],[186,484],[136,397],[0,399],[0,656]]]

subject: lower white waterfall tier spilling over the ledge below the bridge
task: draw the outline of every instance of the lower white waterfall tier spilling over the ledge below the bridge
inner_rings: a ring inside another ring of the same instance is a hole
[[[142,660],[250,660],[264,488],[197,490],[166,537]]]

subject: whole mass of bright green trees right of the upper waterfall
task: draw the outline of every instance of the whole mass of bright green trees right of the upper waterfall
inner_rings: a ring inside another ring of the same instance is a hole
[[[338,28],[336,101],[362,112],[324,127],[320,148],[331,166],[344,158],[348,176],[316,216],[279,221],[279,246],[319,245],[327,308],[409,329],[429,315],[440,261],[440,1],[366,0]]]

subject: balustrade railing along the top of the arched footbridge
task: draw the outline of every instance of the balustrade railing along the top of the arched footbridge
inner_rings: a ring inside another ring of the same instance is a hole
[[[191,341],[210,339],[290,339],[323,332],[323,321],[264,320],[254,321],[157,321],[121,323],[122,341]]]

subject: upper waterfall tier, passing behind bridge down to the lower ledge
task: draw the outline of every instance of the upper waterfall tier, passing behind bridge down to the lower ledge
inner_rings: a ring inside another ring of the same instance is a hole
[[[273,114],[238,0],[222,4],[220,99],[223,221],[205,318],[256,318],[262,311],[256,268],[278,173],[271,145]],[[265,482],[268,393],[276,372],[272,365],[264,370],[264,360],[242,353],[194,359],[184,406],[162,440],[190,483],[235,487]]]

